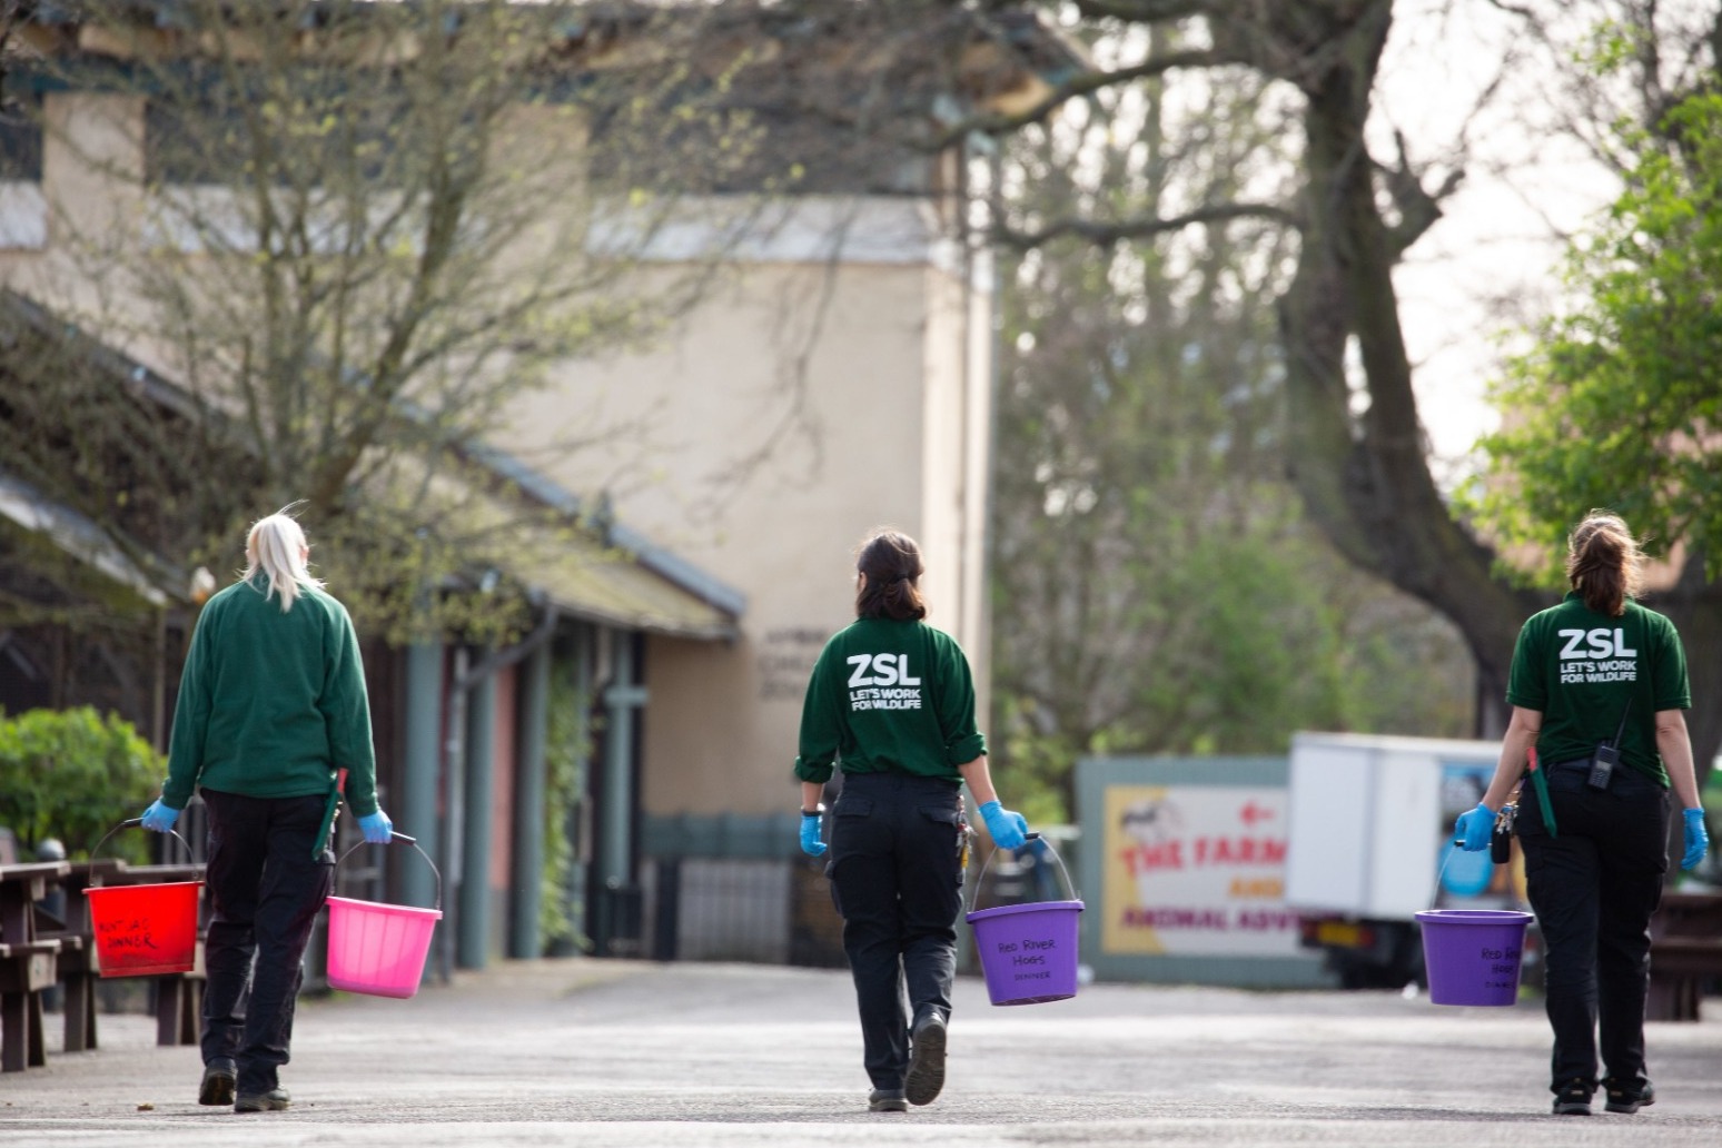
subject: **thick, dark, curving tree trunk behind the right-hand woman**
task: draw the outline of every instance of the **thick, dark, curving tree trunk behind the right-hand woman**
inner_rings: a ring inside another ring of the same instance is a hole
[[[1324,69],[1297,74],[1309,182],[1304,244],[1281,299],[1292,478],[1347,558],[1453,621],[1477,664],[1477,733],[1498,737],[1514,640],[1546,601],[1495,580],[1493,551],[1453,522],[1429,473],[1393,291],[1397,250],[1364,146],[1390,12],[1388,0],[1369,5],[1336,33]],[[1355,396],[1350,339],[1364,379]]]

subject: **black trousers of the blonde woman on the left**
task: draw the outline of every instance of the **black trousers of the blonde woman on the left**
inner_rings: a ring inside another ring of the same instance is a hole
[[[210,926],[203,941],[203,1062],[232,1057],[241,1093],[267,1093],[293,1043],[305,947],[334,885],[334,854],[312,859],[324,797],[203,790]]]

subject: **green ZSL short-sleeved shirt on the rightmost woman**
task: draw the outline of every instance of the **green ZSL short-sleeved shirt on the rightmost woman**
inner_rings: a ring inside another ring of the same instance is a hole
[[[1536,737],[1539,764],[1589,757],[1598,742],[1614,740],[1627,714],[1620,762],[1667,788],[1669,771],[1657,752],[1657,711],[1693,704],[1681,635],[1672,621],[1632,599],[1622,616],[1610,618],[1570,592],[1519,630],[1507,702],[1543,714]]]

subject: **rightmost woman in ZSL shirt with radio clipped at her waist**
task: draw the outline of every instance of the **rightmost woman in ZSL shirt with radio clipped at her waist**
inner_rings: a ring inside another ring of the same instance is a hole
[[[1514,831],[1543,933],[1557,1115],[1589,1115],[1598,1086],[1608,1112],[1655,1102],[1645,997],[1650,917],[1669,869],[1670,788],[1686,823],[1681,867],[1703,861],[1710,845],[1686,733],[1686,652],[1674,623],[1638,604],[1641,568],[1638,540],[1617,515],[1591,511],[1574,527],[1572,589],[1519,632],[1495,778],[1457,826],[1464,849],[1486,847],[1534,749],[1529,764],[1546,792],[1527,790]]]

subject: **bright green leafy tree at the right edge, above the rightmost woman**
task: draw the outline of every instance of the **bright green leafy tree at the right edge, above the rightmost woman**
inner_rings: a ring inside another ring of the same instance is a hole
[[[1708,582],[1722,573],[1722,96],[1691,96],[1660,127],[1622,133],[1639,160],[1569,250],[1570,305],[1495,387],[1503,429],[1484,439],[1476,503],[1534,554],[1560,552],[1574,506],[1612,508]]]

